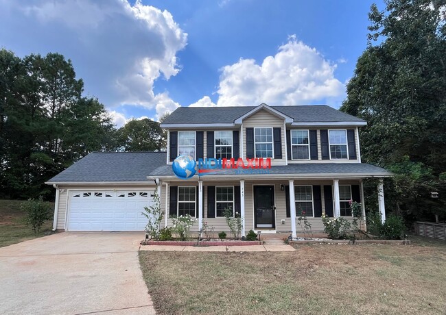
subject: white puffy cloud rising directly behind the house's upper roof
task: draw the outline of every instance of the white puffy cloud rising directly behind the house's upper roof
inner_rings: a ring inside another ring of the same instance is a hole
[[[342,99],[345,86],[334,75],[332,64],[314,48],[290,36],[275,55],[261,64],[253,59],[224,66],[216,105],[296,105]],[[193,106],[214,106],[203,97]]]

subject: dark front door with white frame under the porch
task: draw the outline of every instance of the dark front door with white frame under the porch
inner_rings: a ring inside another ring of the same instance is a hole
[[[254,186],[255,229],[274,229],[274,186]]]

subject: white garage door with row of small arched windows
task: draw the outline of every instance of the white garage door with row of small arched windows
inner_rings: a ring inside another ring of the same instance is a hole
[[[143,231],[141,214],[152,205],[154,190],[88,190],[70,192],[69,231]]]

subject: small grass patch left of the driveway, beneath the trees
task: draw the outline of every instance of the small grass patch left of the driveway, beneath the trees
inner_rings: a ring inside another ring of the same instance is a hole
[[[32,227],[25,225],[25,214],[20,210],[21,200],[0,200],[0,247],[45,236],[53,228],[53,220],[48,220],[40,232],[34,235]]]

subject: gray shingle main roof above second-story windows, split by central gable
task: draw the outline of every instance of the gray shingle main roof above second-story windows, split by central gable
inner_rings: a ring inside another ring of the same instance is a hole
[[[163,121],[163,125],[234,123],[235,119],[243,116],[256,107],[257,106],[214,108],[180,107]],[[279,110],[279,112],[294,118],[295,123],[364,122],[360,118],[335,110],[328,105],[282,105],[271,106],[271,108]]]

